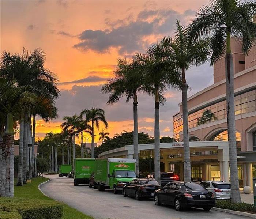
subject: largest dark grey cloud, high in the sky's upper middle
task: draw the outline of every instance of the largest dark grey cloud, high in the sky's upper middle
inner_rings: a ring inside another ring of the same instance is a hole
[[[191,13],[192,10],[180,14],[172,9],[145,9],[136,19],[133,19],[132,15],[123,20],[106,18],[106,30],[84,30],[78,34],[80,42],[75,44],[74,48],[82,51],[93,50],[97,53],[108,53],[110,49],[116,48],[121,55],[143,52],[152,43],[145,37],[172,34],[176,19],[186,24]]]

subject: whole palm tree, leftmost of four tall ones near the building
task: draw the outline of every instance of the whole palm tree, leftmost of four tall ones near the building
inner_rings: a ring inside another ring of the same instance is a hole
[[[136,175],[139,175],[139,139],[138,139],[138,92],[145,92],[142,67],[136,61],[119,58],[115,77],[110,79],[101,92],[110,93],[107,104],[112,105],[125,96],[126,102],[133,100],[133,158],[136,159]],[[103,139],[102,139],[103,143]]]

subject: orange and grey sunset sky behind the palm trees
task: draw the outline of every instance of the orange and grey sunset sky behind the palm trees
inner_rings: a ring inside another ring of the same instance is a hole
[[[100,90],[117,64],[118,57],[131,58],[163,36],[174,33],[176,19],[189,24],[195,12],[209,1],[0,1],[0,52],[20,53],[26,46],[46,53],[45,67],[59,77],[59,118],[46,124],[37,118],[36,138],[60,132],[63,116],[83,109],[105,110],[110,137],[133,131],[133,105],[125,99],[108,106],[108,94]],[[186,72],[189,96],[213,83],[209,63]],[[199,83],[200,81],[200,83]],[[160,107],[160,134],[173,137],[172,116],[179,111],[181,92],[168,90]],[[154,137],[154,99],[138,96],[139,132]],[[95,140],[99,141],[96,131]],[[17,136],[16,136],[17,137]],[[87,136],[88,137],[88,136]],[[79,140],[77,140],[79,143]],[[90,139],[89,139],[90,141]]]

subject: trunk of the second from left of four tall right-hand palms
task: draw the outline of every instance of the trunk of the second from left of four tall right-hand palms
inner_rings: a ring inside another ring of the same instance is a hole
[[[160,182],[160,127],[159,127],[159,93],[156,88],[155,92],[155,180]]]

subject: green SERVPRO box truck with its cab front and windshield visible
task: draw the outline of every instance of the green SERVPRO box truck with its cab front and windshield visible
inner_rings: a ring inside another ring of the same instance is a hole
[[[123,191],[123,186],[136,178],[135,165],[135,159],[96,159],[94,182],[98,185],[98,190],[113,189],[115,194]]]

